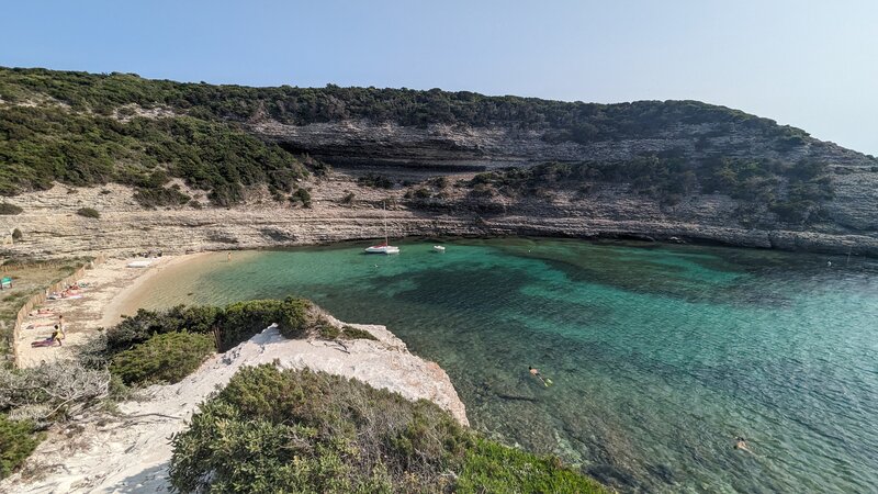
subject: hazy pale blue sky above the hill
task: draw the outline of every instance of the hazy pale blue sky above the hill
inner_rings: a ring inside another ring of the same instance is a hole
[[[878,154],[878,1],[4,1],[0,65],[696,99]]]

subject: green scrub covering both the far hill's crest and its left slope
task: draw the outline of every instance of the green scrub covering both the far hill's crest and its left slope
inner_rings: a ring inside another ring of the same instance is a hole
[[[149,109],[155,114],[140,113]],[[649,138],[680,124],[710,124],[700,145],[743,128],[774,139],[779,149],[802,145],[807,137],[767,119],[696,101],[567,103],[438,89],[248,88],[0,68],[0,194],[46,189],[55,180],[71,186],[113,181],[137,188],[135,199],[145,206],[179,206],[190,198],[167,184],[180,178],[209,192],[217,205],[235,204],[244,188],[266,184],[275,199],[288,197],[307,207],[308,191],[295,182],[307,168],[322,175],[327,167],[248,134],[243,124],[262,117],[290,124],[346,119],[502,124],[540,130],[551,143]],[[394,181],[367,176],[360,184],[392,188]]]

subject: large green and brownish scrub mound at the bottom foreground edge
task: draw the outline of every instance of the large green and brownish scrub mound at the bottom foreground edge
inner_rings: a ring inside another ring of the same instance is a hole
[[[173,438],[170,479],[180,492],[603,492],[434,403],[273,366],[243,369],[201,407]]]

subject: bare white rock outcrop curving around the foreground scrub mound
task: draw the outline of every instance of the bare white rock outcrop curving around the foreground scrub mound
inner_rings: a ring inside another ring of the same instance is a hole
[[[53,430],[24,469],[0,483],[0,492],[170,492],[171,436],[184,430],[198,405],[245,366],[307,367],[356,378],[409,400],[430,400],[468,424],[463,403],[438,364],[409,353],[383,326],[352,326],[379,340],[346,340],[342,347],[331,341],[290,340],[270,327],[212,357],[180,383],[151,386],[147,400],[121,404],[119,415],[77,417],[66,428]]]

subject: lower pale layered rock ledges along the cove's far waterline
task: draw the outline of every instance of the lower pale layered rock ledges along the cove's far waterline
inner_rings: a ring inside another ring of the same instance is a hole
[[[807,229],[784,225],[747,227],[735,220],[739,202],[723,195],[693,195],[666,206],[624,186],[600,186],[588,197],[559,192],[553,197],[510,201],[492,199],[492,210],[469,203],[463,188],[446,189],[448,199],[418,207],[403,189],[360,187],[356,176],[333,172],[303,184],[312,206],[273,201],[267,191],[251,191],[235,207],[210,206],[203,192],[181,190],[198,207],[144,209],[124,186],[99,188],[56,186],[13,199],[23,212],[0,216],[2,246],[8,255],[64,257],[103,252],[131,256],[144,251],[188,251],[267,248],[406,236],[565,236],[708,242],[730,246],[878,256],[878,189],[871,173],[859,170],[835,177],[835,199],[826,205],[833,221]],[[868,177],[867,177],[868,176]],[[471,175],[452,176],[464,181]],[[352,194],[352,200],[344,198]],[[382,204],[387,204],[386,213]],[[93,207],[100,218],[77,215]],[[770,222],[768,222],[770,225]],[[12,232],[21,232],[13,242]]]

